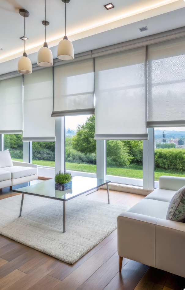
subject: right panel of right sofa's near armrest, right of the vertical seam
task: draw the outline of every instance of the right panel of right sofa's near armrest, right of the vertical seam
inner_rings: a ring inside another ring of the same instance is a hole
[[[185,223],[158,219],[156,268],[185,277]]]

